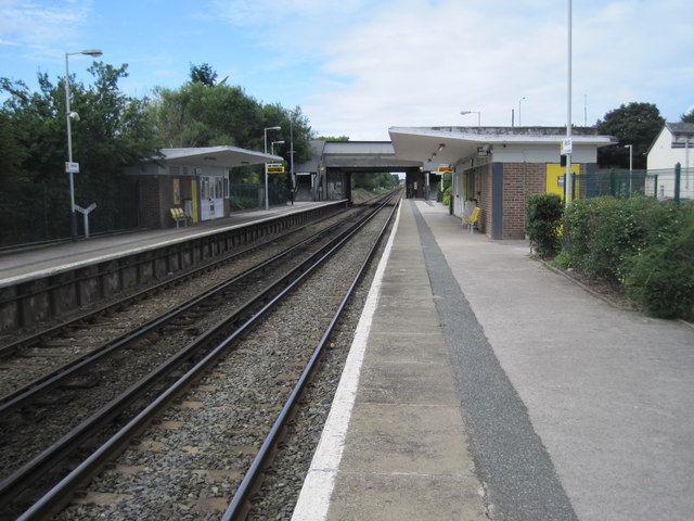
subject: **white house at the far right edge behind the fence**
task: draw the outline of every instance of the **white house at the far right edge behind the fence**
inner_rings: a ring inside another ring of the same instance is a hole
[[[694,124],[666,123],[647,152],[648,193],[674,196],[674,166],[681,167],[680,196],[694,198]]]

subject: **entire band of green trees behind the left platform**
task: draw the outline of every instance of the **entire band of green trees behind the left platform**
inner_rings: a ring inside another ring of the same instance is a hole
[[[72,119],[70,136],[73,161],[79,163],[75,202],[82,207],[97,203],[90,215],[93,232],[137,225],[124,224],[128,216],[137,221],[137,187],[119,173],[162,148],[226,144],[264,151],[266,129],[280,126],[267,130],[268,150],[272,141],[284,141],[274,152],[287,164],[292,155],[295,163],[310,156],[312,131],[300,107],[259,103],[243,88],[227,85],[227,78],[217,81],[206,63],[191,65],[191,81],[156,89],[151,99],[120,91],[127,65],[94,62],[88,71],[92,85],[70,77],[70,112],[79,114]],[[0,219],[9,224],[0,229],[0,243],[67,237],[69,230],[65,80],[53,84],[40,74],[38,84],[30,91],[22,81],[0,78],[5,94],[0,107]],[[271,182],[288,193],[286,170]],[[261,175],[262,166],[235,168],[232,182],[258,182]]]

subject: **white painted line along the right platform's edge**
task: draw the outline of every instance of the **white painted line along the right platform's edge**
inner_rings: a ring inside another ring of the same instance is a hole
[[[347,428],[349,427],[349,419],[357,396],[367,340],[369,339],[371,323],[378,304],[383,276],[398,231],[401,209],[402,204],[398,207],[394,233],[390,234],[384,249],[369,295],[367,295],[364,308],[355,331],[355,339],[345,361],[345,369],[339,379],[321,440],[316,448],[316,454],[294,508],[292,521],[321,521],[327,517],[330,498],[335,486],[335,479],[345,447]]]

